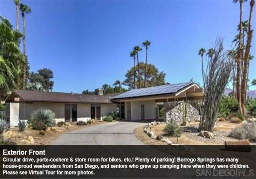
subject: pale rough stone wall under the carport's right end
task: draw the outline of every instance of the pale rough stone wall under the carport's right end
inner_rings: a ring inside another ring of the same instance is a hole
[[[164,114],[165,121],[169,122],[171,119],[176,122],[182,122],[182,102],[165,102],[164,103]],[[187,121],[200,121],[199,106],[198,103],[189,101]]]

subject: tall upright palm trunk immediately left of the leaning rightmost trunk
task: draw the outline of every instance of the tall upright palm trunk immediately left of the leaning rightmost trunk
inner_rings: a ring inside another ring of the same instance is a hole
[[[236,75],[236,98],[238,102],[239,112],[243,114],[241,107],[241,55],[242,55],[242,20],[243,20],[243,1],[240,0],[240,28],[239,28],[239,45],[238,45],[238,59],[237,59],[237,75]]]

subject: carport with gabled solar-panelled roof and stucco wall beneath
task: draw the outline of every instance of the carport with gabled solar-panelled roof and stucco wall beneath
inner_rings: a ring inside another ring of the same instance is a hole
[[[194,82],[186,82],[134,89],[111,99],[112,102],[124,105],[124,119],[127,121],[157,119],[158,104],[175,104],[187,100],[202,101],[203,89]]]

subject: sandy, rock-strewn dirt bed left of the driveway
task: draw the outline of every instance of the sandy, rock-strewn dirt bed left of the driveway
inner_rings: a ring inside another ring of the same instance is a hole
[[[113,121],[114,122],[114,121]],[[24,131],[19,131],[18,127],[11,128],[10,130],[14,132],[14,136],[11,137],[17,144],[21,144],[21,140],[26,138],[27,136],[32,136],[35,141],[35,145],[48,145],[51,144],[57,137],[61,136],[64,133],[68,133],[72,130],[82,129],[85,127],[90,127],[94,125],[104,124],[107,123],[106,121],[97,121],[93,122],[92,124],[79,126],[76,125],[77,122],[70,122],[72,125],[71,127],[67,127],[63,125],[62,127],[57,128],[57,132],[50,130],[50,127],[45,131],[45,135],[39,134],[39,130],[33,130],[31,128],[26,127]]]

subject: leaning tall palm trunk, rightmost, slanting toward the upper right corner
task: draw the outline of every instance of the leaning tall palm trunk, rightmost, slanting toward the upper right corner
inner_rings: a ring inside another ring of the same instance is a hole
[[[241,105],[243,114],[246,113],[245,109],[245,101],[246,101],[246,91],[247,91],[247,72],[249,68],[249,56],[250,56],[250,46],[251,41],[253,38],[253,30],[251,29],[252,24],[252,16],[253,16],[253,6],[254,6],[254,0],[250,1],[250,16],[249,16],[249,24],[248,24],[248,33],[247,33],[247,43],[245,47],[245,54],[244,54],[244,70],[243,70],[243,81],[241,82]]]

